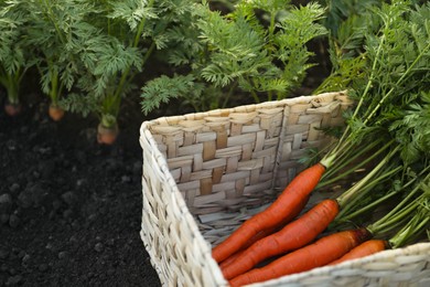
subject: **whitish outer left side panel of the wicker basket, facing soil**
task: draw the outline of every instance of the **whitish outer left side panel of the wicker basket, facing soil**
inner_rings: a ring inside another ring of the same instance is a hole
[[[208,243],[198,233],[162,153],[148,130],[141,130],[141,238],[164,286],[224,286]]]

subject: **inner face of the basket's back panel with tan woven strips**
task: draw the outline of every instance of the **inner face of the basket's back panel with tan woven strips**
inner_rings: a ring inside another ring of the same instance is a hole
[[[217,244],[275,200],[303,168],[308,148],[327,145],[322,128],[342,125],[351,104],[326,93],[159,118],[149,129],[200,231]]]

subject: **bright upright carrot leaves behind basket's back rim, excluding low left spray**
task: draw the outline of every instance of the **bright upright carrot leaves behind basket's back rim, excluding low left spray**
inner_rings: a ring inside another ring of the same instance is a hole
[[[215,86],[238,81],[246,92],[268,93],[268,99],[273,92],[278,98],[286,97],[311,66],[307,62],[312,53],[305,43],[325,33],[315,23],[323,14],[321,7],[311,3],[297,9],[288,2],[241,1],[227,17],[205,10],[198,28],[209,64],[202,70],[203,77]],[[256,9],[270,18],[268,28],[258,21]]]

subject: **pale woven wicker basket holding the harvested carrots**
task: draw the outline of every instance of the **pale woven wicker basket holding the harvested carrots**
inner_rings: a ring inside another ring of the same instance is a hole
[[[351,105],[344,93],[326,93],[143,123],[141,238],[161,283],[228,286],[212,245],[273,201],[303,168],[305,149],[331,141],[322,128],[343,125]],[[430,286],[429,278],[430,244],[421,243],[254,286]]]

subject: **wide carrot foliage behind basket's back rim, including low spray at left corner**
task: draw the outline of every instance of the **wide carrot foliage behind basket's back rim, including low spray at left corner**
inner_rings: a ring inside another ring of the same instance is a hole
[[[289,97],[315,65],[307,44],[326,34],[323,14],[316,3],[288,0],[237,1],[226,14],[195,6],[189,22],[169,32],[168,61],[182,73],[148,82],[143,111],[172,98],[208,110]]]

